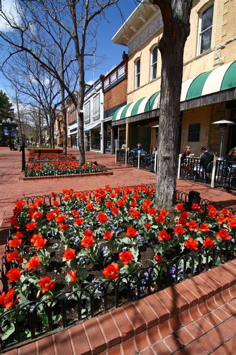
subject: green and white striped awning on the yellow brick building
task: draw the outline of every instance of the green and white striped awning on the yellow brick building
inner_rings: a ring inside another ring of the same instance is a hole
[[[182,83],[181,102],[236,88],[236,60],[201,73]],[[114,113],[112,121],[137,116],[159,108],[160,91],[128,103]]]

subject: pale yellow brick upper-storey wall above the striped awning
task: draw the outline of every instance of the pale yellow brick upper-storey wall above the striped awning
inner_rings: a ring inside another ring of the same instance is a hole
[[[211,4],[210,0],[193,0],[191,31],[185,44],[183,81],[214,67],[236,59],[236,0],[215,0],[211,50],[197,55],[199,13]],[[160,90],[161,55],[158,51],[157,79],[150,81],[150,48],[161,38],[162,30],[155,33],[137,51],[129,55],[127,103]],[[228,41],[228,43],[225,43]],[[220,46],[218,48],[217,46]],[[140,87],[134,88],[135,60],[140,57]]]

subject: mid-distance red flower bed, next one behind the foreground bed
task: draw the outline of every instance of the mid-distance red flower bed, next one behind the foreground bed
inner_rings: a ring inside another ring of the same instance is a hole
[[[93,162],[87,162],[83,165],[78,161],[60,161],[50,163],[29,163],[26,165],[25,177],[34,176],[58,176],[72,174],[101,173],[106,171],[103,165],[96,165]]]

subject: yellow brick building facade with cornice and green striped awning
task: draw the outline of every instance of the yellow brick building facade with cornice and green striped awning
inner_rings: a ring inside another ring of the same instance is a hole
[[[219,153],[222,130],[213,122],[236,123],[236,1],[193,0],[191,31],[185,44],[179,151],[203,145]],[[158,41],[163,22],[158,6],[140,3],[114,35],[128,48],[127,104],[113,115],[112,126],[125,125],[126,144],[157,145],[161,84]],[[154,127],[152,129],[152,127]],[[234,147],[236,125],[224,130],[223,155]]]

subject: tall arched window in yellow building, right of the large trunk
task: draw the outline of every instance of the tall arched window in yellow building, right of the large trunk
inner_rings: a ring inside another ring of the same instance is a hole
[[[213,9],[214,5],[208,7],[200,14],[198,54],[204,53],[211,48]]]

